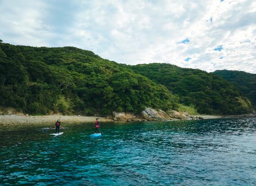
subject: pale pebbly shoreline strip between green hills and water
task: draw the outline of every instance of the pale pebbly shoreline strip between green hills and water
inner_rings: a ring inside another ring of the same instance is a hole
[[[203,119],[224,119],[224,118],[238,118],[238,117],[254,117],[256,115],[194,115],[193,117],[202,117]],[[97,116],[64,116],[64,115],[45,115],[45,116],[24,116],[24,115],[0,115],[0,126],[18,126],[18,125],[54,125],[57,119],[60,119],[62,123],[89,123],[94,122],[96,118],[99,118],[100,122],[120,122],[114,121],[110,117],[97,117]],[[181,120],[181,119],[172,119]],[[170,121],[172,121],[170,120]],[[187,119],[183,119],[187,120]],[[136,120],[135,120],[136,121]],[[138,121],[147,121],[138,119]],[[127,121],[121,121],[127,122]]]

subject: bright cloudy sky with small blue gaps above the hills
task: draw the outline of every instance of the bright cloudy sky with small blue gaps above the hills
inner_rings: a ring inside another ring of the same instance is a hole
[[[255,0],[0,0],[0,39],[256,74]]]

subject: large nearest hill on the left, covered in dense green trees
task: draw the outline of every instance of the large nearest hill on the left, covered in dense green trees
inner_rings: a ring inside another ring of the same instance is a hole
[[[163,85],[75,47],[0,43],[0,106],[33,114],[168,110],[177,98]]]

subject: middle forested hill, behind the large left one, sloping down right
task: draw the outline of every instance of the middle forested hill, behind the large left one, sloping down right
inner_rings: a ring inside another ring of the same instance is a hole
[[[246,97],[241,97],[232,83],[216,74],[165,63],[128,67],[165,85],[180,97],[181,103],[194,105],[200,113],[240,114],[251,111],[250,101]]]

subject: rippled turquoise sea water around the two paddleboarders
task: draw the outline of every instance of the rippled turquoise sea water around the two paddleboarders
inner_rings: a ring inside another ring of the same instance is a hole
[[[0,129],[0,185],[255,186],[256,118]]]

